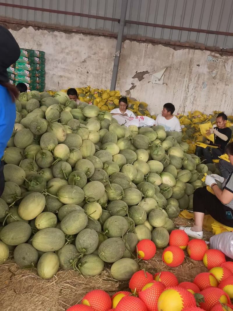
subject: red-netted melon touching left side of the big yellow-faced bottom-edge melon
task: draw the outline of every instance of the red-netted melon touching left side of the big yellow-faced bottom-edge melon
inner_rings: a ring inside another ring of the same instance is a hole
[[[165,290],[165,285],[161,282],[152,281],[146,284],[139,292],[139,298],[144,302],[148,311],[157,309],[158,298]]]

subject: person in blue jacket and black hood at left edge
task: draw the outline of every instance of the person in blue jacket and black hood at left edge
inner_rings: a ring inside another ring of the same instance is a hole
[[[20,48],[10,31],[0,26],[0,159],[14,129],[16,118],[15,100],[19,91],[9,83],[7,68],[20,57]],[[4,161],[0,162],[0,196],[5,182]]]

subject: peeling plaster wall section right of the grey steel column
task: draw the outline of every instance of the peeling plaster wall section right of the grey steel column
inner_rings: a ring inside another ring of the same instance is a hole
[[[151,74],[165,67],[163,84],[151,83]],[[233,57],[125,41],[117,87],[122,94],[148,103],[156,114],[167,102],[175,105],[176,113],[223,110],[232,114]]]

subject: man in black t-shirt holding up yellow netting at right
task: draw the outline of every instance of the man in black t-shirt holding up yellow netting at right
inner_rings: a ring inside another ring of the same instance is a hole
[[[197,146],[195,154],[200,158],[203,156],[205,161],[203,163],[212,163],[212,159],[218,159],[219,156],[223,155],[227,143],[231,139],[231,129],[226,127],[227,116],[224,113],[220,113],[216,117],[216,128],[210,128],[206,131],[206,134],[214,134],[214,144],[212,142],[209,145],[217,146],[218,148],[206,147],[202,148]]]

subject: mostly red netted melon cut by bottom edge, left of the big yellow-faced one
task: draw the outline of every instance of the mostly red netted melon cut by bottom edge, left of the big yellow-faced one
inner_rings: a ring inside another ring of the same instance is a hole
[[[116,311],[147,311],[144,302],[134,296],[125,296],[117,304]]]

